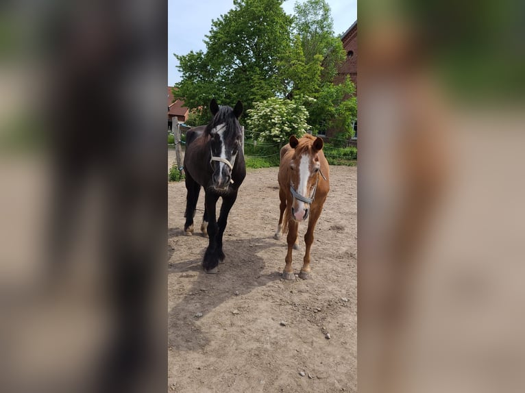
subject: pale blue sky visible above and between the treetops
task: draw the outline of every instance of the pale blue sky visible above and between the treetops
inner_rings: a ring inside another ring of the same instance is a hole
[[[293,14],[296,0],[286,0],[282,8]],[[298,0],[302,3],[304,0]],[[326,0],[332,9],[334,32],[341,34],[357,19],[357,0]],[[168,0],[168,85],[180,81],[173,53],[206,50],[204,36],[210,32],[212,19],[233,8],[233,0]]]

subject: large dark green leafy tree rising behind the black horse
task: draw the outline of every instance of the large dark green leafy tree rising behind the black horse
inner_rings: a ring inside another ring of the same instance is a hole
[[[286,93],[280,60],[291,50],[292,18],[283,0],[234,0],[234,8],[212,21],[206,52],[177,55],[182,73],[177,97],[190,108],[206,109],[212,97],[222,103],[254,101]],[[206,112],[206,111],[204,111]]]

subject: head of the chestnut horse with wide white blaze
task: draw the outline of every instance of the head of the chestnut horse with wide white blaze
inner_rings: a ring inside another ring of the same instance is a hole
[[[323,140],[306,134],[301,142],[290,137],[290,147],[294,149],[290,161],[290,192],[293,203],[292,217],[296,221],[306,220],[310,204],[315,197],[317,181],[319,181],[319,151],[323,149]]]

